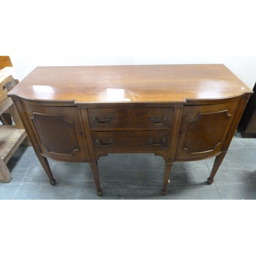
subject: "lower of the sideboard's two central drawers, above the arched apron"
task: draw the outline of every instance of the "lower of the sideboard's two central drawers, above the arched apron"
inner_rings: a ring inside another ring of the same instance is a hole
[[[95,149],[168,148],[170,132],[92,132]]]

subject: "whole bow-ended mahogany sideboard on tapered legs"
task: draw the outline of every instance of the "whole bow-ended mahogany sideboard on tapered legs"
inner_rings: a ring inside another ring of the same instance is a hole
[[[174,161],[227,153],[250,90],[224,65],[37,67],[12,98],[36,156],[89,162],[102,195],[97,161],[109,153],[154,153],[165,160],[162,195]]]

